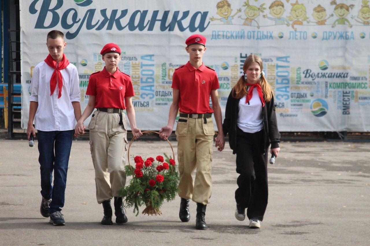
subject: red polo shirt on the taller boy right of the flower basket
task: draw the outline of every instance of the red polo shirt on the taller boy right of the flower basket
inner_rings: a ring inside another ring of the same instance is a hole
[[[182,113],[213,113],[209,106],[211,91],[220,88],[215,70],[202,64],[198,69],[188,62],[172,77],[172,88],[180,90],[179,109]]]

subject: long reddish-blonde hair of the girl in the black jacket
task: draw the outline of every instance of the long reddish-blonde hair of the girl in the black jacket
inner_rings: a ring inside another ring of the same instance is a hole
[[[245,59],[245,62],[244,62],[244,65],[243,65],[243,71],[246,71],[249,68],[249,66],[252,64],[252,62],[257,62],[259,64],[259,67],[261,69],[261,76],[258,79],[257,83],[262,88],[263,99],[265,99],[265,102],[269,102],[272,99],[272,96],[273,96],[274,92],[273,92],[270,84],[267,82],[265,76],[262,75],[262,70],[263,70],[262,59],[258,55],[253,55],[253,54],[249,55]],[[240,99],[243,96],[248,94],[247,87],[245,86],[246,83],[248,83],[248,82],[244,78],[244,75],[242,75],[239,78],[238,82],[236,82],[236,85],[231,90],[232,91],[231,95],[232,95],[233,98]]]

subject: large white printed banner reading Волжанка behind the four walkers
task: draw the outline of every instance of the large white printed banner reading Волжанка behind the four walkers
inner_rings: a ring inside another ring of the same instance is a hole
[[[262,57],[275,92],[280,131],[370,131],[369,0],[21,0],[22,127],[32,69],[48,54],[46,35],[63,31],[79,72],[81,109],[100,50],[121,48],[137,126],[159,130],[172,103],[172,74],[189,55],[185,40],[207,38],[203,63],[219,77],[224,115],[245,58]],[[85,121],[87,125],[89,119]]]

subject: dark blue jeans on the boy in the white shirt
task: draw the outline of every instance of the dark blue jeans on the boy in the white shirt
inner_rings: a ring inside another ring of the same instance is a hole
[[[49,212],[61,211],[67,183],[68,161],[71,153],[73,130],[37,131],[38,162],[41,173],[41,195],[52,198]],[[53,180],[54,184],[51,185]]]

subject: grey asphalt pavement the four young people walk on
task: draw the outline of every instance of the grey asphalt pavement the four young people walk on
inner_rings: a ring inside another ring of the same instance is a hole
[[[175,155],[177,142],[171,139]],[[180,199],[160,216],[127,208],[125,225],[100,225],[88,141],[72,144],[65,191],[65,226],[40,215],[37,141],[0,140],[0,245],[370,245],[370,141],[282,141],[269,164],[269,204],[260,229],[234,216],[235,155],[214,148],[207,230],[178,218]],[[136,140],[130,155],[171,154],[168,142]],[[176,159],[177,160],[177,159]],[[130,161],[131,163],[131,161]],[[141,207],[141,211],[144,207]]]

